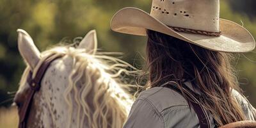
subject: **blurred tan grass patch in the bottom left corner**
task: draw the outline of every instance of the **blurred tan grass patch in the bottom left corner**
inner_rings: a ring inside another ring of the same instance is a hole
[[[17,128],[19,116],[17,108],[0,108],[0,127]]]

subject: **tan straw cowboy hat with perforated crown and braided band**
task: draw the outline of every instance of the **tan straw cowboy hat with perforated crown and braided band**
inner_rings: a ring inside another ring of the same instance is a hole
[[[255,48],[253,36],[243,26],[220,19],[220,0],[153,0],[150,14],[132,7],[118,11],[111,29],[141,36],[151,29],[212,51]]]

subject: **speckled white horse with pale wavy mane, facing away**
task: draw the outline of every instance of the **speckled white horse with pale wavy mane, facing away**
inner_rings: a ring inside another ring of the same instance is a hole
[[[134,67],[97,51],[95,30],[76,47],[58,45],[44,52],[38,50],[26,31],[17,32],[19,52],[27,65],[14,98],[19,114],[25,115],[19,118],[22,123],[19,127],[123,126],[134,100],[127,91],[129,81],[120,76],[131,74],[128,68]],[[42,73],[40,67],[51,56],[58,58]],[[28,79],[34,79],[37,74],[42,74],[40,87],[30,97]],[[23,108],[27,108],[25,113]]]

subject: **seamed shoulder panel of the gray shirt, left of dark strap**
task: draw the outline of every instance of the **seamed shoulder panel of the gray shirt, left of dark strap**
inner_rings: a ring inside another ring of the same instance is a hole
[[[159,113],[164,109],[188,106],[188,102],[180,93],[165,87],[154,87],[140,93],[137,100],[144,100],[157,109]]]

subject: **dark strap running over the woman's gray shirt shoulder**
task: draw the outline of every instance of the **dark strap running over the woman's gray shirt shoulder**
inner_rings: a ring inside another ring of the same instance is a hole
[[[182,91],[184,93],[182,93],[182,91],[177,85],[167,84],[164,87],[170,88],[171,90],[174,90],[175,92],[180,93],[180,95],[185,96],[186,97],[185,99],[188,101],[188,104],[190,104],[193,107],[196,113],[196,116],[198,117],[200,127],[210,128],[210,123],[209,123],[209,118],[207,118],[207,113],[203,108],[203,106],[198,101],[198,98],[200,97],[200,95],[198,96],[198,94],[196,94],[195,92],[193,92],[192,90],[190,90],[188,87],[185,87],[185,86],[184,88],[182,88]]]

